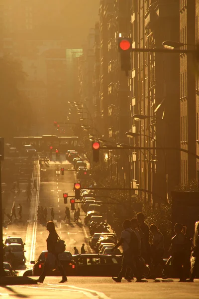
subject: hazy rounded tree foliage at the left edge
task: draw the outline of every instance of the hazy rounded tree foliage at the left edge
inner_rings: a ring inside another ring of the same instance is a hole
[[[25,78],[19,60],[9,55],[0,58],[0,136],[7,139],[29,131],[30,103],[19,89]]]

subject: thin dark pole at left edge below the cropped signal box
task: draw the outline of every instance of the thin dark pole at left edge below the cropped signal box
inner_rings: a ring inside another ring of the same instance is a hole
[[[1,155],[0,155],[0,277],[5,276],[3,270],[3,217],[2,217],[2,190],[1,190]]]

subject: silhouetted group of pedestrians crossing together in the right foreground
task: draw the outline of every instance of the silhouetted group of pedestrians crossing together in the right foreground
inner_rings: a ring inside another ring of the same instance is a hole
[[[150,232],[153,236],[151,244],[149,243]],[[190,280],[187,280],[187,273],[189,273],[190,268],[190,240],[187,238],[186,229],[182,224],[176,223],[174,232],[175,236],[171,239],[169,250],[173,259],[173,269],[180,282],[192,282],[194,281],[195,274],[191,275]],[[116,278],[112,278],[115,282],[121,282],[122,278],[131,281],[133,277],[137,279],[137,282],[142,282],[142,269],[144,269],[146,264],[149,265],[151,270],[150,279],[156,279],[158,265],[162,266],[164,270],[163,279],[167,278],[167,267],[163,260],[164,236],[155,224],[151,224],[148,227],[145,223],[143,213],[138,213],[136,218],[123,222],[123,231],[120,240],[112,251],[119,246],[123,247],[123,259],[121,271]],[[199,237],[198,249],[196,250],[197,254],[199,260]]]

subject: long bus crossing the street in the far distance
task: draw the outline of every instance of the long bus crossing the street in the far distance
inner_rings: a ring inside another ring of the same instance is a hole
[[[68,149],[75,149],[78,151],[79,137],[75,136],[56,136],[56,135],[43,135],[43,136],[25,136],[14,137],[13,147],[17,150],[23,149],[25,145],[32,145],[38,152],[49,151],[50,147],[58,149],[59,152],[66,152]]]

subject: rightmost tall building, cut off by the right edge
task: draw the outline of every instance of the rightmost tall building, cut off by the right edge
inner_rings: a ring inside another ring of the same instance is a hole
[[[180,1],[180,41],[188,44],[183,49],[193,49],[196,42],[195,16],[196,2]],[[197,5],[198,6],[198,5]],[[198,25],[197,25],[198,26]],[[193,54],[180,55],[180,117],[181,117],[181,148],[196,154],[196,79],[193,63]],[[198,81],[198,80],[197,80]],[[198,117],[198,115],[197,115]],[[198,119],[197,119],[198,122]],[[197,143],[198,144],[198,143]],[[194,155],[181,152],[181,183],[188,184],[197,177],[197,162]],[[198,164],[199,170],[199,164]]]

